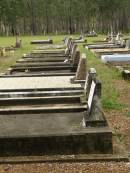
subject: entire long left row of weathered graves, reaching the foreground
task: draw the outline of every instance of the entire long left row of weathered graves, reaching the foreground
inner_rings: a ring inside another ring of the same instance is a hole
[[[72,39],[44,46],[0,75],[0,162],[127,160],[114,153],[86,56]]]

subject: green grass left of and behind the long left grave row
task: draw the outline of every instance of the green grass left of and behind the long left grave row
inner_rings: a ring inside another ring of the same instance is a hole
[[[31,45],[30,42],[34,39],[48,39],[47,36],[22,36],[22,48],[15,51],[15,53],[7,53],[7,57],[0,57],[0,72],[5,71],[11,65],[21,58],[22,54],[34,49],[36,45]],[[52,36],[55,44],[62,43],[64,36]],[[0,37],[0,47],[15,45],[15,37]]]

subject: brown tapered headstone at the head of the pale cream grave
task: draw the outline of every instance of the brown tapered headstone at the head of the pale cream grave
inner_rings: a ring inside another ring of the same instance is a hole
[[[87,74],[87,59],[86,55],[82,54],[82,57],[79,61],[79,65],[77,68],[75,80],[85,80]]]

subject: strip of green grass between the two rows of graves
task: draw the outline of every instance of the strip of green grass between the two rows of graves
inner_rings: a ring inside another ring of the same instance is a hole
[[[104,37],[100,37],[103,39]],[[99,38],[96,38],[99,40]],[[90,38],[89,42],[92,42],[95,38]],[[122,80],[119,73],[114,68],[110,68],[107,65],[103,64],[101,60],[94,56],[90,51],[86,51],[81,48],[82,52],[86,52],[88,69],[94,67],[97,70],[97,77],[102,82],[102,105],[103,108],[108,110],[122,110],[127,107],[127,105],[122,104],[118,101],[120,92],[116,87],[115,81]]]

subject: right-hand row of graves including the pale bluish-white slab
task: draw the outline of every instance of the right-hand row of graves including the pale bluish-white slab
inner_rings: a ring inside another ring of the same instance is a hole
[[[101,61],[109,66],[114,66],[122,74],[123,79],[130,80],[130,39],[123,38],[118,33],[111,34],[105,40],[95,41],[85,45],[87,49],[101,58]]]

